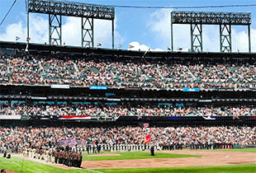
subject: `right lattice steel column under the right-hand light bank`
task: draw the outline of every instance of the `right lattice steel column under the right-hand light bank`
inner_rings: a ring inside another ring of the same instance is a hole
[[[220,52],[232,52],[231,25],[220,25]]]

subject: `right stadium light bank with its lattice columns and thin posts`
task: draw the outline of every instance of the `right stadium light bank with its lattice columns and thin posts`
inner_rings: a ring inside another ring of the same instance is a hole
[[[192,52],[202,52],[202,25],[220,25],[220,52],[232,52],[231,26],[248,26],[249,53],[251,52],[251,14],[247,12],[171,12],[171,49],[173,24],[189,24]],[[227,33],[227,34],[226,34]]]

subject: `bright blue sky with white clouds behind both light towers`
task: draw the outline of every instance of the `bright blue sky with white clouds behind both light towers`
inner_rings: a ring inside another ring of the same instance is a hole
[[[0,20],[6,14],[13,0],[0,0]],[[226,0],[74,0],[74,2],[88,2],[101,5],[130,5],[130,6],[209,6],[231,4],[256,4],[255,0],[226,1]],[[225,7],[186,9],[186,11],[205,12],[251,12],[252,13],[252,50],[256,52],[256,7]],[[183,9],[175,9],[183,10]],[[115,42],[122,44],[122,49],[127,49],[131,42],[136,43],[141,49],[163,49],[170,46],[170,19],[172,9],[138,9],[116,7]],[[81,44],[81,21],[75,17],[64,17],[63,40],[65,44]],[[48,16],[41,14],[31,15],[31,42],[48,42]],[[219,51],[218,26],[203,26],[204,51]],[[174,26],[174,49],[190,46],[190,29],[186,25]],[[19,41],[26,40],[26,8],[25,0],[17,0],[6,21],[0,26],[0,40],[14,41],[18,36]],[[95,22],[95,42],[102,43],[102,47],[111,48],[111,22]],[[232,29],[233,51],[247,51],[247,28],[235,26]],[[137,46],[137,47],[138,47]],[[136,48],[137,48],[136,47]]]

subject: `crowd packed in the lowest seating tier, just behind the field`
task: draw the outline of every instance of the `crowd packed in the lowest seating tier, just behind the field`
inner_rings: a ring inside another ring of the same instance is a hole
[[[229,143],[234,145],[255,145],[256,127],[167,127],[167,128],[32,128],[0,127],[0,147],[18,150],[24,147],[59,146],[59,140],[75,138],[87,144],[143,144],[150,134],[153,144],[159,146]]]

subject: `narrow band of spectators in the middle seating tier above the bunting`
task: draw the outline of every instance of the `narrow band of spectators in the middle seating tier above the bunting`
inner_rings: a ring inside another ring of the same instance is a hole
[[[80,105],[80,104],[0,104],[0,115],[91,115],[119,116],[256,116],[256,108],[246,106],[194,107],[154,105]]]

